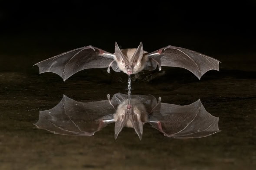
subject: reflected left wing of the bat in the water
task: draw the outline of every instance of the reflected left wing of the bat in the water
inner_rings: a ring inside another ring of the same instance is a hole
[[[111,115],[114,113],[108,100],[82,103],[64,95],[54,108],[40,111],[34,125],[60,135],[92,136],[113,122]]]

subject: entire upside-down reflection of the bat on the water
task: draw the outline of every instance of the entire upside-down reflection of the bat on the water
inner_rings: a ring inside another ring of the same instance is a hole
[[[115,123],[115,139],[124,127],[134,128],[142,138],[143,125],[172,138],[201,138],[220,132],[219,117],[214,117],[203,107],[200,99],[179,106],[161,103],[152,95],[116,93],[110,99],[82,103],[63,95],[54,108],[39,111],[34,125],[54,134],[92,136],[110,123]]]

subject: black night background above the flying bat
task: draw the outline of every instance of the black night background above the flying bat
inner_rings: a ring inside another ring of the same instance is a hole
[[[255,9],[255,1],[5,1],[0,69],[19,70],[21,61],[28,67],[86,45],[113,52],[115,41],[121,48],[143,42],[146,51],[173,45],[221,61],[227,54],[244,59],[256,48]]]

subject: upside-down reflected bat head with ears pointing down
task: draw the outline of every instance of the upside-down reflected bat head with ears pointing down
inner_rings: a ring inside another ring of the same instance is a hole
[[[141,115],[134,112],[131,104],[128,104],[126,108],[118,114],[115,122],[115,139],[125,126],[134,128],[141,140],[143,133],[143,122],[141,121]]]

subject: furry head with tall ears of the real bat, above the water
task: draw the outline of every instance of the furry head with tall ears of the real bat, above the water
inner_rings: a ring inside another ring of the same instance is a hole
[[[115,57],[118,67],[126,74],[135,74],[143,69],[141,67],[141,60],[143,58],[144,51],[142,42],[138,48],[120,50],[115,42]]]

